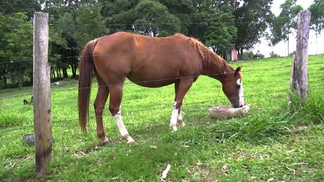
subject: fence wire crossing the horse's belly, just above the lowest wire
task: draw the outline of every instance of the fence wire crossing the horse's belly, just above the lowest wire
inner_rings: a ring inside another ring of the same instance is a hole
[[[318,63],[312,63],[308,65],[321,65],[324,63],[318,62]],[[260,69],[251,69],[251,70],[242,70],[241,72],[255,72],[255,71],[269,71],[269,70],[274,70],[274,69],[281,69],[281,68],[291,68],[291,65],[282,65],[282,66],[277,66],[277,67],[271,67],[271,68],[260,68]],[[217,74],[204,74],[204,76],[211,77],[211,76],[217,76],[221,74],[231,74],[233,72],[226,72],[226,73],[217,73]],[[203,75],[203,74],[200,74]],[[129,83],[116,83],[116,84],[111,84],[111,85],[101,85],[101,86],[93,86],[93,87],[85,87],[85,88],[68,88],[68,89],[61,89],[61,90],[51,90],[51,92],[64,92],[64,91],[69,91],[69,90],[82,90],[82,89],[89,89],[89,88],[102,88],[102,87],[111,87],[111,86],[116,86],[116,85],[129,85],[129,84],[138,84],[138,83],[150,83],[150,82],[156,82],[156,81],[168,81],[168,80],[176,80],[176,79],[186,79],[186,78],[195,78],[199,77],[200,75],[193,75],[193,76],[187,76],[187,77],[176,77],[176,78],[169,78],[169,79],[155,79],[155,80],[147,80],[147,81],[134,81],[134,82],[129,82]],[[10,97],[1,97],[0,100],[2,99],[12,99],[12,98],[17,98],[17,97],[26,97],[30,96],[30,94],[21,94],[21,95],[16,95],[16,96],[10,96]]]

